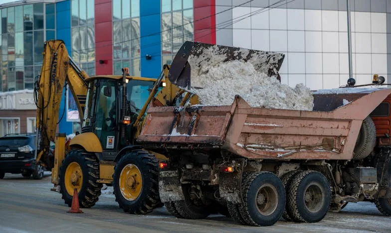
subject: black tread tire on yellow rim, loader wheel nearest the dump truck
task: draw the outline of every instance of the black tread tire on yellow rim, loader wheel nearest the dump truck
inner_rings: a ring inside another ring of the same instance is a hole
[[[122,169],[134,164],[141,172],[142,188],[135,200],[127,200],[121,193],[119,179]],[[127,152],[117,162],[113,174],[113,188],[115,200],[120,208],[129,214],[148,214],[160,207],[162,202],[159,196],[159,161],[155,155],[145,150]]]

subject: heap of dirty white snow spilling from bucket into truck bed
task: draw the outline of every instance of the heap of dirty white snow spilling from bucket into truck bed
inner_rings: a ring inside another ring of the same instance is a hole
[[[249,62],[234,60],[215,64],[209,66],[207,72],[204,70],[204,74],[192,76],[192,87],[202,88],[192,89],[201,105],[231,105],[234,96],[239,95],[251,107],[313,109],[312,92],[303,84],[295,88],[281,84],[275,77],[257,72]]]

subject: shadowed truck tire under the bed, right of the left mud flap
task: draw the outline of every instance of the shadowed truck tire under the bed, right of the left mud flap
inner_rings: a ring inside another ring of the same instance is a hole
[[[182,186],[182,190],[184,192],[185,200],[174,202],[178,213],[184,219],[205,219],[208,217],[210,214],[209,208],[200,202],[192,200],[188,187]]]

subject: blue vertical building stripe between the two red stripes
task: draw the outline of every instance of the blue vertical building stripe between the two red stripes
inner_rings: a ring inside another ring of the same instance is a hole
[[[141,77],[157,78],[162,70],[160,0],[140,0],[140,16]]]

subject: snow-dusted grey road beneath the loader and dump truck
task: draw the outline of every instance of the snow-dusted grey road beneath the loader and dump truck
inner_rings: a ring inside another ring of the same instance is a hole
[[[272,227],[254,228],[229,218],[212,215],[206,220],[183,220],[165,208],[136,216],[118,208],[112,195],[103,195],[84,214],[68,214],[61,195],[49,191],[50,176],[40,181],[6,174],[0,180],[0,232],[390,232],[391,218],[372,203],[350,203],[340,213],[328,213],[316,224],[294,224],[284,220]]]

